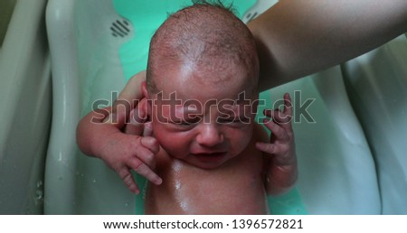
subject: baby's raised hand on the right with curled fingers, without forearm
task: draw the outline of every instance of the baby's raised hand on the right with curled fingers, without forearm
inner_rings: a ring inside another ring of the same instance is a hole
[[[285,166],[297,163],[295,153],[294,133],[291,126],[292,104],[289,94],[284,95],[284,109],[264,110],[264,115],[269,116],[263,120],[264,125],[271,131],[270,143],[257,143],[258,150],[271,154],[274,165]]]

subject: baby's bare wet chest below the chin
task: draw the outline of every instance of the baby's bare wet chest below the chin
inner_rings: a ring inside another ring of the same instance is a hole
[[[177,167],[164,183],[150,186],[147,210],[166,214],[264,214],[267,203],[260,168],[201,170]],[[153,203],[154,202],[154,203]]]

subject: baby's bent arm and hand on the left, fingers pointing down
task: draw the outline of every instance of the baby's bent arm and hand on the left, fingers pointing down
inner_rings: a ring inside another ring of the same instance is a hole
[[[138,193],[139,189],[131,170],[155,184],[162,182],[153,172],[159,145],[156,138],[151,136],[151,126],[147,124],[132,126],[132,135],[123,133],[126,116],[128,113],[123,107],[118,107],[114,114],[112,107],[90,112],[80,120],[77,142],[84,154],[103,160],[111,169],[118,172],[130,191]]]

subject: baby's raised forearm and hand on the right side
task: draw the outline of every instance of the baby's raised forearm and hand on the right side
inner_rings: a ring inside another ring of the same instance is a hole
[[[259,142],[258,150],[266,154],[265,187],[270,195],[279,195],[289,191],[298,178],[297,155],[294,133],[291,127],[292,105],[289,94],[284,95],[284,110],[265,110],[264,124],[271,133],[270,143]]]

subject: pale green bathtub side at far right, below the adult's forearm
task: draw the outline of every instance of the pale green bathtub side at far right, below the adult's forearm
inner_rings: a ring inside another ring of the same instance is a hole
[[[407,40],[342,65],[345,86],[377,167],[383,214],[407,213]]]

